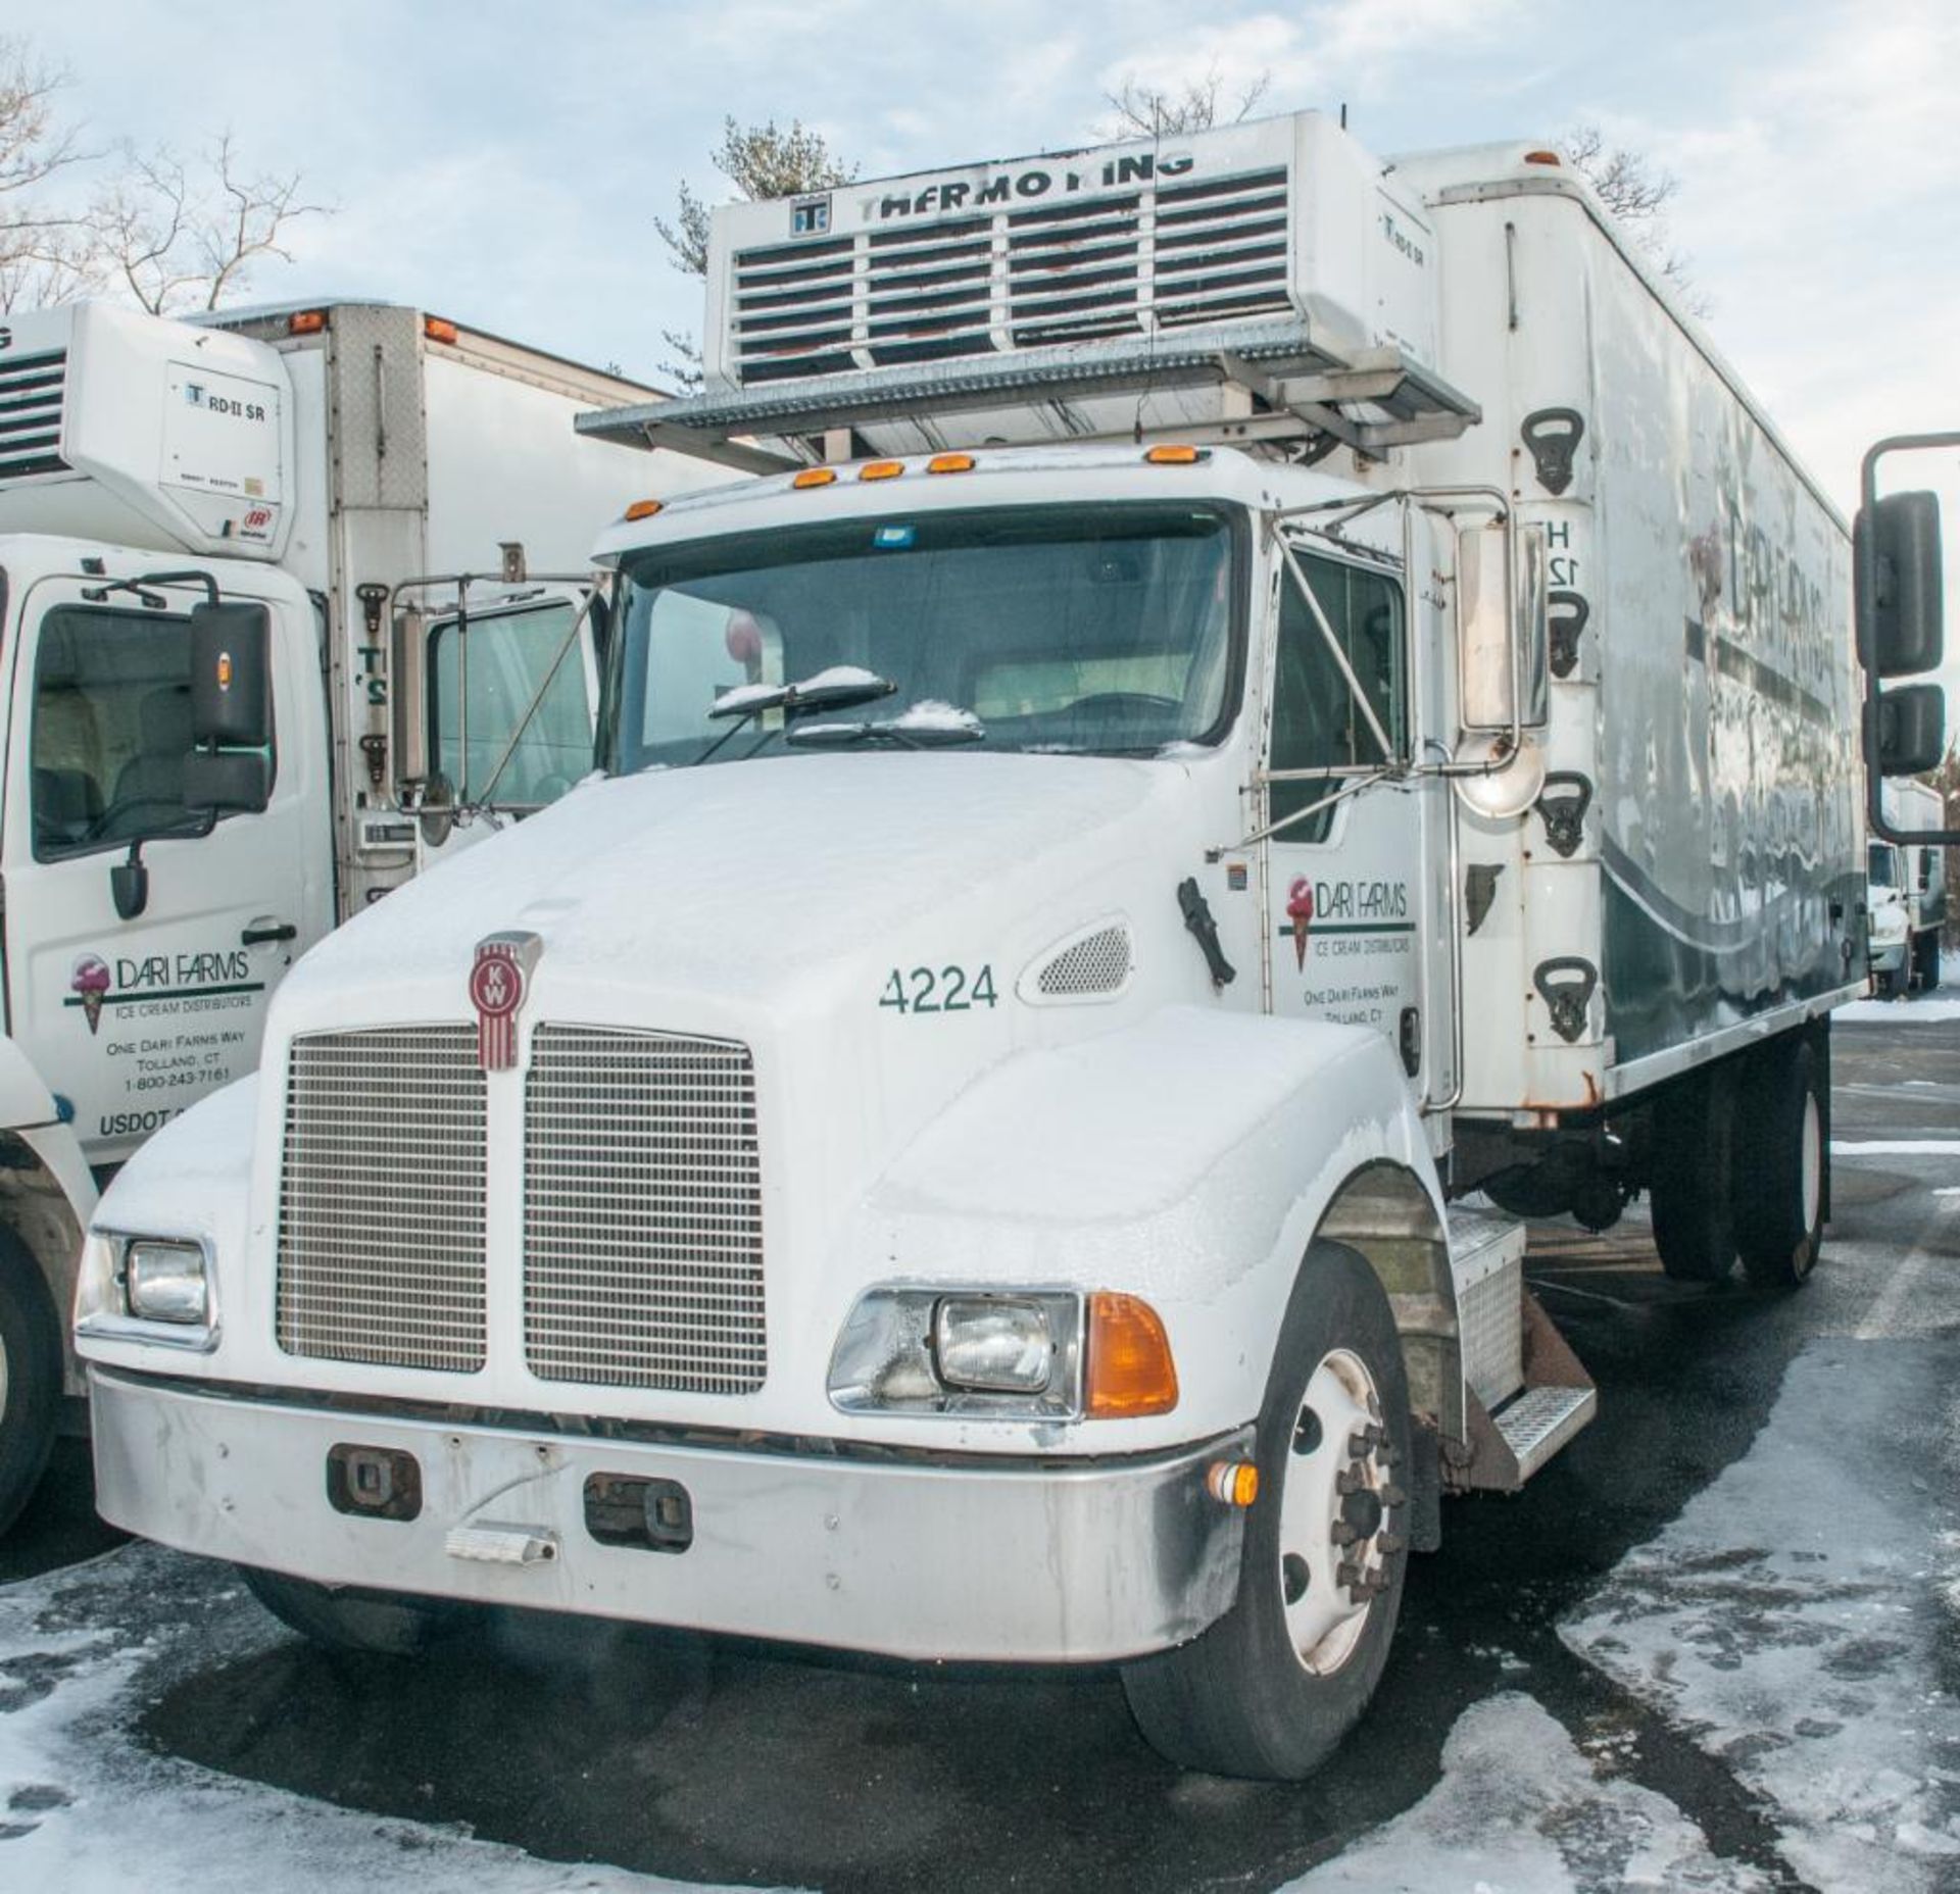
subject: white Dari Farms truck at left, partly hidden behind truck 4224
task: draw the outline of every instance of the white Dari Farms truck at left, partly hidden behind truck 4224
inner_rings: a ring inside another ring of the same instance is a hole
[[[82,1387],[104,1169],[259,1064],[337,917],[590,768],[576,576],[647,460],[570,419],[647,398],[372,304],[0,321],[0,1528]],[[257,627],[263,807],[186,791],[200,625]]]

